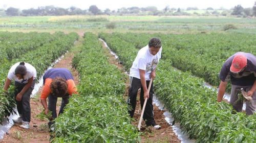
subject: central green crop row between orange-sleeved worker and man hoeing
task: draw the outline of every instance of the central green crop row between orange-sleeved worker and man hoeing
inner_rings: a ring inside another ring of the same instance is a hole
[[[97,35],[84,34],[73,65],[79,95],[73,95],[57,119],[52,142],[138,142],[123,99],[125,75],[108,61]]]

